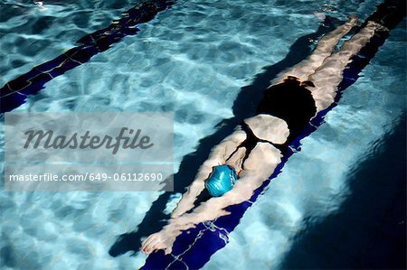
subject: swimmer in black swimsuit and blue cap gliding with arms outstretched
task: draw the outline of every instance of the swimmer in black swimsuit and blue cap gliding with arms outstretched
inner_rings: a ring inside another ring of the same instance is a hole
[[[374,37],[388,34],[389,28],[405,16],[405,5],[405,0],[379,5],[358,33],[334,52],[336,44],[357,24],[357,18],[350,16],[347,23],[318,42],[307,60],[273,79],[264,91],[258,115],[244,119],[232,135],[213,147],[168,224],[147,237],[141,250],[150,254],[164,249],[169,254],[175,237],[184,230],[228,215],[225,208],[250,200],[310,121],[335,105],[337,86],[352,57]],[[204,189],[212,198],[194,208],[194,201]]]

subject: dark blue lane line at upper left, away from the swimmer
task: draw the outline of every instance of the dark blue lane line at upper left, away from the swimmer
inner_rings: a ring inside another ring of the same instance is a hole
[[[72,70],[99,52],[107,51],[112,44],[120,42],[128,35],[135,35],[139,23],[151,21],[156,14],[175,4],[175,0],[144,1],[123,13],[123,17],[113,21],[108,27],[80,38],[82,45],[65,51],[62,55],[33,68],[0,88],[0,113],[11,111],[24,104],[28,95],[34,95],[48,81]]]

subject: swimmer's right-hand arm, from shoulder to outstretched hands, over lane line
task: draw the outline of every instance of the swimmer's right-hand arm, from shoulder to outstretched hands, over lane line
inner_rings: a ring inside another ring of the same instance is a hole
[[[235,183],[232,191],[226,192],[222,197],[205,201],[192,213],[170,220],[163,230],[147,237],[142,251],[150,254],[157,249],[164,249],[166,254],[169,254],[172,251],[175,237],[183,230],[230,214],[225,208],[250,200],[253,192],[274,172],[281,162],[281,156],[279,150],[271,144],[258,143],[245,161],[241,178]]]

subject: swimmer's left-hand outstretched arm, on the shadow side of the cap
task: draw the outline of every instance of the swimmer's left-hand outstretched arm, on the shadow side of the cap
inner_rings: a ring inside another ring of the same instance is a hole
[[[200,167],[195,176],[194,182],[187,188],[183,197],[179,201],[171,215],[171,219],[176,219],[184,215],[188,210],[194,208],[194,201],[204,191],[205,180],[213,171],[213,167],[222,165],[232,152],[244,141],[246,135],[238,128],[232,135],[226,137],[221,144],[216,145],[209,158]]]

